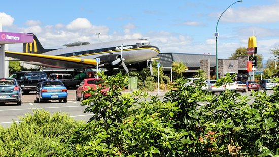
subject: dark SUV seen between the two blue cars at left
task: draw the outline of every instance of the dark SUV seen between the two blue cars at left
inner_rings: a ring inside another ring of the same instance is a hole
[[[36,86],[39,82],[47,80],[47,74],[44,72],[15,72],[10,78],[15,78],[20,84],[24,94],[30,91],[36,91]]]

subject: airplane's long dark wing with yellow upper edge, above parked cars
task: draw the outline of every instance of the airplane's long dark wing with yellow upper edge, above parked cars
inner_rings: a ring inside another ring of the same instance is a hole
[[[82,59],[64,56],[53,56],[34,53],[22,53],[5,51],[6,57],[18,58],[20,61],[26,61],[29,64],[42,65],[53,68],[74,68],[82,69],[95,67],[97,65],[95,59]]]

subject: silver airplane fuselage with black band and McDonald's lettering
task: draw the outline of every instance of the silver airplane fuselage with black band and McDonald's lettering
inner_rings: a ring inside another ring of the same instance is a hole
[[[112,42],[67,47],[45,52],[43,54],[73,58],[95,59],[108,54],[121,55],[122,44],[122,58],[125,58],[126,64],[143,62],[155,57],[159,53],[159,49],[155,46],[151,46],[150,43],[146,40],[126,39]]]

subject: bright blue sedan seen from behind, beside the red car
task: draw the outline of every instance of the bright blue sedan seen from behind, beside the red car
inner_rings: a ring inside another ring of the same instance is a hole
[[[36,87],[36,102],[41,103],[45,100],[59,100],[67,102],[67,88],[59,80],[48,80],[38,83]]]

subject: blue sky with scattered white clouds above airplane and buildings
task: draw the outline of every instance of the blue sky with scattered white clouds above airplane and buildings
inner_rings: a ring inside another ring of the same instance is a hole
[[[161,53],[216,55],[217,21],[231,0],[153,1],[2,1],[3,32],[33,32],[44,48],[63,48],[77,41],[98,42],[144,38]],[[264,60],[279,47],[279,0],[243,0],[220,17],[218,58],[247,48],[255,35]],[[22,51],[22,44],[9,44]]]

